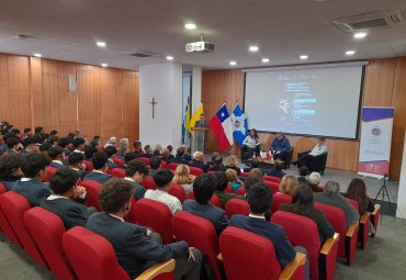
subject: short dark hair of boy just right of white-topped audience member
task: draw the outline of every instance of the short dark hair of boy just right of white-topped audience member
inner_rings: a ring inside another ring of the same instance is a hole
[[[211,173],[201,173],[193,181],[194,200],[207,204],[216,190],[217,179]]]

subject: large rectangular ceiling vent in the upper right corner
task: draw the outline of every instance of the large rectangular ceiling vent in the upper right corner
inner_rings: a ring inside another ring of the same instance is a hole
[[[332,20],[334,24],[348,32],[393,26],[403,22],[405,20],[399,10],[362,13]]]

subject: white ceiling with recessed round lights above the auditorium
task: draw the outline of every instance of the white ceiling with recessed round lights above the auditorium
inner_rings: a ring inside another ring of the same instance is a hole
[[[230,68],[369,59],[406,55],[406,23],[369,30],[362,41],[331,25],[331,20],[388,9],[406,11],[405,0],[0,0],[0,53],[33,55],[92,65],[137,69],[174,61],[204,68]],[[405,13],[404,13],[405,14]],[[183,25],[192,21],[195,31]],[[215,44],[212,54],[185,53],[184,44]],[[19,34],[33,38],[16,40]],[[105,48],[95,46],[106,42]],[[259,52],[248,52],[256,44]],[[146,49],[158,58],[123,53]],[[345,51],[357,54],[346,57]]]

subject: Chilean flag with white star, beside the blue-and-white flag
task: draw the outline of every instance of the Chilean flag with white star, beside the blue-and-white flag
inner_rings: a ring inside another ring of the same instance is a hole
[[[222,152],[233,145],[233,125],[226,104],[210,120],[208,125]]]

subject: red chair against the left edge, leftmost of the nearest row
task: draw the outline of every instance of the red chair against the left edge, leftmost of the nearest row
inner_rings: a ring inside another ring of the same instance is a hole
[[[30,209],[29,201],[14,191],[8,191],[0,195],[0,204],[22,247],[38,265],[48,268],[24,224],[24,213]]]

